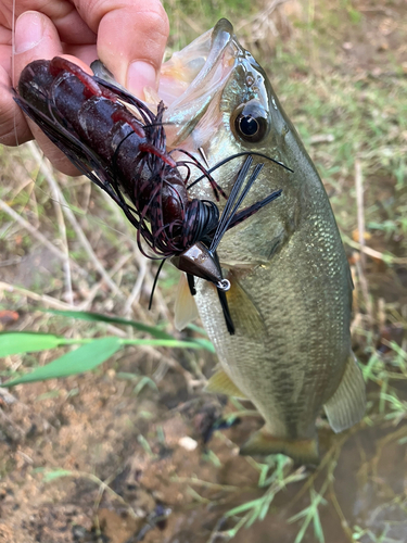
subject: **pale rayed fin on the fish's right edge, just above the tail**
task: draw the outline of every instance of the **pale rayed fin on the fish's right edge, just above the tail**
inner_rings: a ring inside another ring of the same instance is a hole
[[[354,353],[351,353],[347,359],[340,386],[323,408],[335,433],[351,428],[364,417],[366,409],[365,381]]]

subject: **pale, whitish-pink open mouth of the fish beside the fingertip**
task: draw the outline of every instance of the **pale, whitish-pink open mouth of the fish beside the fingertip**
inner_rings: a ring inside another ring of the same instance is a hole
[[[212,30],[174,53],[162,65],[158,96],[167,106],[164,122],[168,125],[168,148],[179,146],[191,136],[209,108],[215,111],[239,51],[233,26],[221,18]],[[194,150],[199,147],[200,141],[195,141]]]

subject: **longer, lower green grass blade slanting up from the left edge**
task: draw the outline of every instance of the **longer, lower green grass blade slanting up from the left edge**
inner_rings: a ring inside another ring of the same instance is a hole
[[[119,349],[120,341],[118,338],[111,337],[97,339],[79,346],[75,351],[71,351],[60,356],[46,366],[36,368],[34,371],[18,377],[17,379],[4,382],[2,387],[13,387],[14,384],[33,381],[44,381],[46,379],[56,379],[89,371],[105,362]]]

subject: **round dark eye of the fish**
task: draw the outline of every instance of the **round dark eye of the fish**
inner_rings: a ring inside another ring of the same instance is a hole
[[[268,131],[267,112],[259,102],[252,100],[234,110],[231,126],[240,139],[257,143]]]

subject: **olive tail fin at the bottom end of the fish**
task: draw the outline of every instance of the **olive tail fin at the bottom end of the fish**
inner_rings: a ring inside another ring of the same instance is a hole
[[[318,441],[317,439],[290,440],[288,438],[275,438],[264,428],[253,433],[240,447],[240,454],[285,454],[295,464],[318,465]]]

